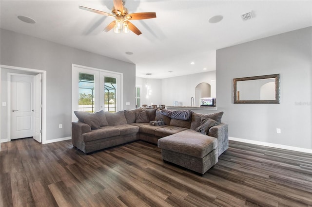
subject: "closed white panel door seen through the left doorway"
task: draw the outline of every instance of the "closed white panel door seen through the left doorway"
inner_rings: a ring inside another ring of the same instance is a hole
[[[11,76],[11,139],[33,137],[33,76]]]

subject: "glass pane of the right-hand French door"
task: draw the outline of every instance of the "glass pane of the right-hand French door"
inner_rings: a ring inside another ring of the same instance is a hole
[[[104,108],[105,111],[116,112],[116,78],[104,77]]]

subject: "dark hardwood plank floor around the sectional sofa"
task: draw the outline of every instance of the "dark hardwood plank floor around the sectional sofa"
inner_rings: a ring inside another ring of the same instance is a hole
[[[203,177],[143,141],[84,155],[71,140],[1,143],[0,206],[312,206],[312,155],[230,141]]]

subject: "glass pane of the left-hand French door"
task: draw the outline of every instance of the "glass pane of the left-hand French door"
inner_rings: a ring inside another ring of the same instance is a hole
[[[78,110],[95,112],[94,105],[94,75],[79,72],[79,100],[78,100]]]

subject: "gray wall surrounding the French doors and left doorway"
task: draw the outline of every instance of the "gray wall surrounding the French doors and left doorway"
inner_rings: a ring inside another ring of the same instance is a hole
[[[123,73],[123,109],[135,108],[134,64],[8,30],[0,33],[1,65],[47,71],[46,140],[71,136],[72,64]],[[7,102],[6,93],[1,87],[1,102]],[[1,107],[1,139],[7,138],[6,113],[6,107]]]

